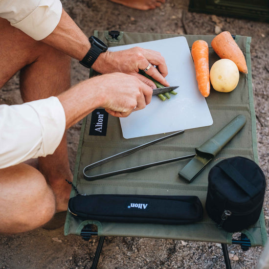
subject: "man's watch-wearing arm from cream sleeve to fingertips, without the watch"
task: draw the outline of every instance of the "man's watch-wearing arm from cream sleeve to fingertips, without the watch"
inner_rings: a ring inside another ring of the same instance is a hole
[[[50,45],[78,61],[81,61],[90,49],[88,37],[63,10],[60,0],[13,0],[12,3],[9,3],[9,0],[0,0],[0,17],[33,39]],[[138,74],[139,69],[147,68],[150,63],[147,74],[164,86],[169,86],[164,79],[168,73],[164,58],[157,51],[149,49],[106,51],[98,56],[92,68],[102,74],[132,74],[154,88],[151,80]]]

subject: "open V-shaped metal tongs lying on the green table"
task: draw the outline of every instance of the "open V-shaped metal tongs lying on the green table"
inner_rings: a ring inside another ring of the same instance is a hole
[[[143,144],[143,145],[140,145],[140,146],[137,146],[135,148],[132,148],[130,150],[127,150],[127,151],[124,151],[124,152],[120,152],[118,154],[115,154],[111,157],[107,157],[105,159],[102,159],[102,160],[99,160],[97,162],[94,162],[88,166],[86,166],[84,169],[83,169],[83,176],[84,176],[84,179],[86,180],[96,180],[96,179],[104,179],[104,178],[108,178],[108,177],[111,177],[111,176],[115,176],[115,175],[120,175],[120,174],[124,174],[124,173],[132,173],[132,172],[137,172],[137,171],[141,171],[143,169],[146,169],[146,168],[149,168],[149,167],[152,167],[152,166],[157,166],[157,165],[161,165],[161,164],[165,164],[165,163],[169,163],[169,162],[174,162],[174,161],[178,161],[178,160],[183,160],[183,159],[188,159],[188,158],[192,158],[192,157],[195,157],[195,154],[192,154],[192,155],[187,155],[187,156],[183,156],[183,157],[177,157],[177,158],[173,158],[173,159],[168,159],[168,160],[162,160],[162,161],[158,161],[158,162],[153,162],[153,163],[149,163],[149,164],[144,164],[144,165],[140,165],[140,166],[135,166],[135,167],[130,167],[130,168],[126,168],[126,169],[122,169],[122,170],[117,170],[117,171],[112,171],[112,172],[108,172],[108,173],[104,173],[104,174],[99,174],[99,175],[94,175],[94,176],[89,176],[86,174],[87,171],[97,167],[97,166],[100,166],[106,162],[109,162],[111,160],[114,160],[114,159],[117,159],[117,158],[120,158],[120,157],[125,157],[125,156],[128,156],[140,149],[143,149],[143,148],[146,148],[150,145],[153,145],[157,142],[160,142],[162,140],[165,140],[167,138],[170,138],[170,137],[173,137],[173,136],[176,136],[178,134],[183,134],[184,133],[184,130],[181,130],[177,133],[174,133],[174,134],[170,134],[170,135],[167,135],[167,136],[164,136],[164,137],[161,137],[161,138],[158,138],[156,140],[153,140],[151,142],[148,142],[146,144]]]

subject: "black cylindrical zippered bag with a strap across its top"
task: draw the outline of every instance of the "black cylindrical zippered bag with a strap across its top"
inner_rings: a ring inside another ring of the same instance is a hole
[[[265,175],[254,161],[245,157],[224,159],[208,175],[208,216],[225,231],[241,231],[258,221],[265,189]]]

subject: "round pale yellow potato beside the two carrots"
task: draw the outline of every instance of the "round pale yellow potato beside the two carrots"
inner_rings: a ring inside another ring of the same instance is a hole
[[[229,59],[221,59],[210,69],[210,82],[214,90],[229,92],[236,88],[239,81],[239,70]]]

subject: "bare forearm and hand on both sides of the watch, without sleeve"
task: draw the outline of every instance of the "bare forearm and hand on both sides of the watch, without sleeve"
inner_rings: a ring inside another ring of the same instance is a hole
[[[57,27],[42,42],[63,51],[79,61],[84,58],[90,49],[88,38],[64,10]],[[165,60],[159,52],[151,49],[134,47],[116,52],[106,51],[99,55],[92,68],[101,74],[122,72],[135,75],[154,89],[156,87],[151,80],[138,74],[138,71],[147,68],[149,63],[152,66],[147,71],[147,74],[162,85],[169,86],[169,83],[164,78],[168,74]]]

